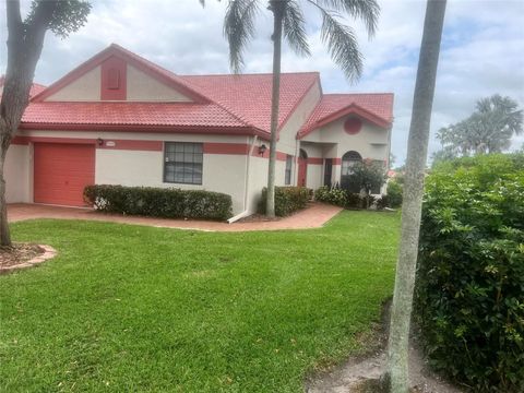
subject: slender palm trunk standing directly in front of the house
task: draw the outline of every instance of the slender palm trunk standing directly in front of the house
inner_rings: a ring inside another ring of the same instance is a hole
[[[267,200],[265,214],[267,217],[275,216],[275,166],[276,166],[276,138],[278,132],[278,108],[281,100],[281,53],[282,53],[282,21],[284,17],[286,2],[270,1],[270,9],[273,12],[273,90],[271,96],[271,140],[270,140],[270,164],[267,167]]]

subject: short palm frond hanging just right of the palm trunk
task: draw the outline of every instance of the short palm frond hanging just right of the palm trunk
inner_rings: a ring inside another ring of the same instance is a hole
[[[287,44],[295,53],[311,56],[306,34],[306,20],[300,5],[295,0],[289,0],[286,4],[283,28]]]

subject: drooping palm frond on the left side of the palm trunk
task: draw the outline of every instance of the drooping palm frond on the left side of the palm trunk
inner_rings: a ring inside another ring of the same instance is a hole
[[[230,0],[224,19],[224,35],[229,43],[229,64],[235,73],[243,66],[243,50],[254,37],[259,0]]]

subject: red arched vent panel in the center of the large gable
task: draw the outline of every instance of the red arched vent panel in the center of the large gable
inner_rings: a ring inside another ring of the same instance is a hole
[[[128,67],[124,60],[111,56],[100,66],[100,99],[126,100]]]

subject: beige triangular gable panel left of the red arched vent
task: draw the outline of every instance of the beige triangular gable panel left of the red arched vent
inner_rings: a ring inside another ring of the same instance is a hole
[[[46,102],[94,102],[100,100],[100,67],[86,72],[66,85]]]

